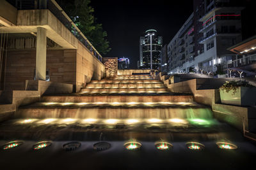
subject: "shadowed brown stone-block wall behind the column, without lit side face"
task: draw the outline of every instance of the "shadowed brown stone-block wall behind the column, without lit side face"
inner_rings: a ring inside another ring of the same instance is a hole
[[[50,80],[76,84],[76,50],[47,50]],[[34,80],[35,50],[8,51],[6,90],[24,90],[26,80]]]

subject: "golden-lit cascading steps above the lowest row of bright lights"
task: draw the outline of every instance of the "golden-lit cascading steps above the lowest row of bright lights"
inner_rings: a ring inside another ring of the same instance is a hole
[[[201,117],[202,109],[193,96],[169,92],[149,75],[120,75],[93,80],[77,94],[43,96],[41,103],[19,108],[16,117],[168,119],[188,118],[191,111]]]

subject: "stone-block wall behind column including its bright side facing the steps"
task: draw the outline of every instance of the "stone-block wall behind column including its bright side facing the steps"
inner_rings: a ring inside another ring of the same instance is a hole
[[[34,80],[35,50],[8,51],[6,90],[24,90]],[[47,50],[50,81],[83,86],[104,76],[104,65],[81,43],[77,50]]]

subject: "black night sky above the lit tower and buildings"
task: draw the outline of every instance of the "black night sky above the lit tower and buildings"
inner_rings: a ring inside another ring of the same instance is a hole
[[[108,32],[112,50],[103,57],[128,57],[130,68],[137,67],[140,36],[147,29],[156,29],[163,36],[163,44],[169,43],[193,12],[192,0],[92,0],[97,22]]]

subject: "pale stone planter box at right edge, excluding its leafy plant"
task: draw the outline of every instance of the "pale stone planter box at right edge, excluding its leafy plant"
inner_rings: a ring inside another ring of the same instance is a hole
[[[256,87],[238,87],[236,94],[233,90],[225,92],[220,90],[220,99],[222,104],[232,104],[237,106],[255,106],[256,105]]]

